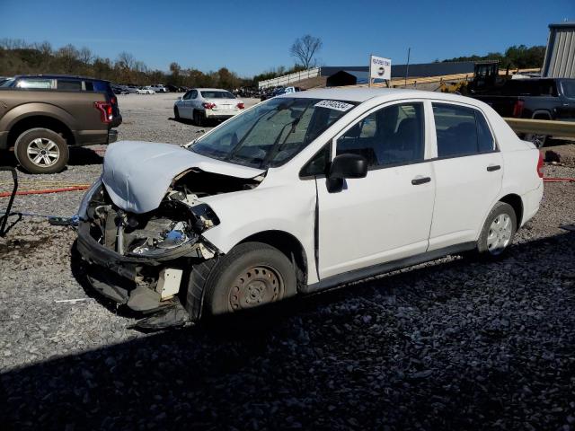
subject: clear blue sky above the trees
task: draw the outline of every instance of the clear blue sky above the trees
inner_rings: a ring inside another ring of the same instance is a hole
[[[575,21],[575,0],[367,2],[358,0],[0,0],[0,38],[72,43],[101,57],[128,51],[146,66],[172,61],[239,75],[292,66],[288,49],[320,37],[326,66],[367,65],[370,53],[403,64],[544,45],[552,22]]]

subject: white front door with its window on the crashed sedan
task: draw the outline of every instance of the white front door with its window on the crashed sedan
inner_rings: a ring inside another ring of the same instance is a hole
[[[316,180],[321,279],[427,251],[435,180],[424,113],[423,101],[388,104],[333,139],[332,154],[362,155],[369,169],[339,191]]]

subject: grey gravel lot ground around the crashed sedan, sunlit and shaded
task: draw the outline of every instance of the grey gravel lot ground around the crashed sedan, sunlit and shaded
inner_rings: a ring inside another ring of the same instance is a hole
[[[121,138],[193,138],[193,126],[166,121],[169,97],[120,99]],[[89,183],[100,163],[81,149],[66,172],[21,179]],[[575,223],[574,187],[546,184],[498,263],[439,259],[151,334],[85,289],[73,229],[25,218],[0,239],[2,427],[575,430],[575,233],[559,228]],[[14,208],[69,216],[81,196]],[[82,301],[57,303],[69,299]]]

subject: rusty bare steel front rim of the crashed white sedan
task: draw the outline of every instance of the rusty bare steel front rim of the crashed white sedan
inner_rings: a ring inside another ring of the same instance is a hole
[[[281,299],[284,281],[278,271],[267,266],[243,270],[232,283],[228,303],[232,312],[273,303]]]

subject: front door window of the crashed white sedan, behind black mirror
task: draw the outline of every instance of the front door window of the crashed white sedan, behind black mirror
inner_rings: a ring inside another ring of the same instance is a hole
[[[370,167],[417,163],[425,151],[420,102],[395,104],[359,120],[340,138],[337,154],[359,154]]]

